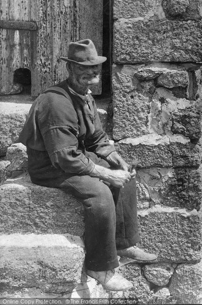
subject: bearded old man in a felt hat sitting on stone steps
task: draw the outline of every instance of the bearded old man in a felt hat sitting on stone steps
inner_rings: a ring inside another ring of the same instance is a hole
[[[89,39],[69,44],[69,76],[34,102],[20,135],[27,147],[34,184],[60,188],[84,206],[86,273],[105,289],[127,290],[118,256],[151,261],[156,255],[136,247],[135,169],[110,144],[102,130],[89,87],[99,82],[98,56]]]

